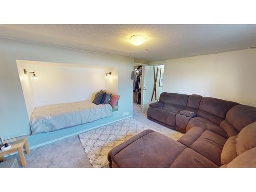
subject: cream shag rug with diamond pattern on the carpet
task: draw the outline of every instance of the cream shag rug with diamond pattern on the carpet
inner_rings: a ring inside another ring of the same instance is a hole
[[[134,118],[127,118],[82,133],[79,135],[79,139],[93,167],[107,167],[109,164],[107,158],[108,153],[112,148],[146,129],[151,128]],[[162,130],[159,129],[152,130],[162,132]],[[168,131],[163,134],[175,140],[183,135],[177,131],[167,130]]]

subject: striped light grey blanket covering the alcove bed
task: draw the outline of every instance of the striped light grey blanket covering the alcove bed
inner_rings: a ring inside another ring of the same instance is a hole
[[[31,115],[32,135],[51,132],[112,116],[110,104],[94,104],[91,100],[38,106]]]

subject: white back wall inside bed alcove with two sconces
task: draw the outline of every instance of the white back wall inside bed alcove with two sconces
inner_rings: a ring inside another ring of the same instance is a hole
[[[29,117],[36,106],[93,99],[101,89],[117,94],[115,68],[17,60],[17,68]],[[38,76],[24,74],[24,69]],[[106,71],[113,73],[106,78]]]

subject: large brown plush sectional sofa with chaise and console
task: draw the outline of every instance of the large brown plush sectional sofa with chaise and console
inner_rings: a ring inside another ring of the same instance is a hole
[[[162,93],[159,101],[150,104],[147,117],[186,133],[175,141],[143,131],[109,152],[110,167],[256,167],[253,106]]]

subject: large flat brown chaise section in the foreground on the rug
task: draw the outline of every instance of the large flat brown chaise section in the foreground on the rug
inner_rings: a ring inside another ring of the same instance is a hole
[[[187,146],[152,130],[145,130],[114,147],[110,167],[218,167]]]

